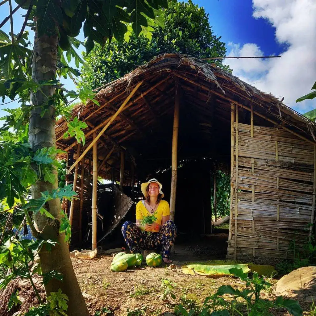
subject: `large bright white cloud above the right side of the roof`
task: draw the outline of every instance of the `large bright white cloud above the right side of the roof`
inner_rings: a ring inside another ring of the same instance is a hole
[[[276,40],[288,44],[281,58],[230,59],[233,73],[240,79],[270,92],[299,112],[316,107],[313,100],[295,104],[316,80],[316,1],[253,0],[253,16],[267,19],[276,28]],[[264,56],[255,43],[229,43],[228,56]]]

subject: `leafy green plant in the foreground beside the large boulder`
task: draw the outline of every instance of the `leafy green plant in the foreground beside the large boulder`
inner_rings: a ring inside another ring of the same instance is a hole
[[[252,279],[248,278],[247,273],[243,273],[242,269],[233,268],[229,272],[234,276],[240,277],[246,283],[246,288],[240,291],[234,289],[230,285],[222,285],[219,287],[216,295],[222,296],[225,294],[233,295],[234,301],[241,298],[246,304],[246,313],[249,316],[265,316],[273,315],[270,312],[271,308],[286,308],[291,315],[301,316],[302,308],[297,301],[283,299],[282,296],[276,298],[275,301],[269,301],[260,298],[260,292],[271,287],[271,284],[265,281],[264,278],[259,277],[255,272]]]

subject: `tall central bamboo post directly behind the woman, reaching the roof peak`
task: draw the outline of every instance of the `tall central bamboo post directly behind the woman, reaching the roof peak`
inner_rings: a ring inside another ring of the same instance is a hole
[[[172,133],[172,153],[171,153],[171,190],[170,190],[170,220],[174,221],[174,211],[176,206],[177,190],[177,168],[178,168],[178,135],[179,135],[179,82],[175,84],[173,133]]]

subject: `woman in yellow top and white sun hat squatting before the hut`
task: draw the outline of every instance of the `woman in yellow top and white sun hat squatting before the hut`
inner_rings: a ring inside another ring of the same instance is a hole
[[[161,188],[162,185],[157,179],[141,184],[145,199],[136,205],[136,224],[125,222],[122,226],[122,234],[131,253],[140,252],[141,249],[158,249],[162,252],[163,262],[171,263],[169,254],[176,238],[177,228],[169,220],[169,204],[161,200],[164,197]],[[143,217],[148,215],[155,215],[157,219],[152,224],[142,225]]]

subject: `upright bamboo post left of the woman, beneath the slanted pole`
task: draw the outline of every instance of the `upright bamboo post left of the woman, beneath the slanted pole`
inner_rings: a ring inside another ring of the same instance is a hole
[[[93,139],[97,136],[96,132],[93,132]],[[92,147],[92,250],[97,246],[97,170],[98,170],[98,153],[97,142]]]

